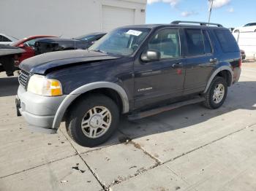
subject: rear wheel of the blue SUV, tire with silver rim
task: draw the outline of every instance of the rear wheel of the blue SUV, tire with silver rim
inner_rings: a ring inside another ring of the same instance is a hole
[[[219,89],[219,92],[214,95],[214,90]],[[224,93],[223,93],[223,91]],[[222,93],[222,95],[221,95]],[[206,101],[203,102],[204,106],[209,109],[217,109],[224,103],[227,97],[227,82],[222,77],[215,77],[211,85],[208,87],[206,94],[204,95]]]

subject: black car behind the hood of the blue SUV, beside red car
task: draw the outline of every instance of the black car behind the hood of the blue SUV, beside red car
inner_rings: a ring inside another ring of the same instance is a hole
[[[105,33],[93,33],[78,36],[73,39],[62,39],[62,38],[45,38],[39,39],[35,43],[36,54],[42,54],[45,52],[54,52],[60,50],[85,50],[89,48],[94,42],[102,38]]]

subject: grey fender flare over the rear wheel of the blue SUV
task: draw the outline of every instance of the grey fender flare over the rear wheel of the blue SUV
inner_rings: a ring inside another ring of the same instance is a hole
[[[230,66],[220,66],[218,69],[216,69],[213,74],[211,74],[211,77],[208,79],[206,89],[203,91],[203,93],[206,93],[208,88],[211,85],[212,80],[214,77],[224,77],[227,81],[227,86],[230,86],[233,84],[233,71],[230,68]]]

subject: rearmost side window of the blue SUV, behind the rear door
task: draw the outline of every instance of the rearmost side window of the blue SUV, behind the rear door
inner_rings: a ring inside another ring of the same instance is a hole
[[[238,52],[236,39],[228,30],[214,30],[223,52]]]

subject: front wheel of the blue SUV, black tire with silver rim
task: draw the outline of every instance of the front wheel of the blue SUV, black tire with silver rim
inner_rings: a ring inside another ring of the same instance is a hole
[[[118,106],[111,98],[91,94],[77,101],[68,115],[66,128],[69,136],[83,147],[94,147],[113,135],[118,127],[120,114]]]

